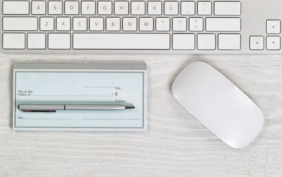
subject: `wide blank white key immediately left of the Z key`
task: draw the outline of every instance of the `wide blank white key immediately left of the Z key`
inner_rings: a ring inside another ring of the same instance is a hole
[[[3,30],[36,31],[37,17],[3,17]]]

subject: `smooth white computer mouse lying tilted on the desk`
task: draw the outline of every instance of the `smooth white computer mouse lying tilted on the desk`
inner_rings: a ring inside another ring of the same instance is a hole
[[[187,66],[173,82],[172,93],[186,110],[233,148],[250,144],[263,126],[258,106],[206,63]]]

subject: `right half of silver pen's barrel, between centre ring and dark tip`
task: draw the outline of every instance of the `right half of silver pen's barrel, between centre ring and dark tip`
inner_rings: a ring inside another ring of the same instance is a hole
[[[122,110],[123,105],[65,105],[65,110]]]

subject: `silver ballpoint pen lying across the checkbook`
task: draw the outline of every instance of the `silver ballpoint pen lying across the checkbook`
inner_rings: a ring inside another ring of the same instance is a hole
[[[134,108],[134,106],[125,105],[18,105],[18,109],[23,112],[56,112],[57,110],[124,110]]]

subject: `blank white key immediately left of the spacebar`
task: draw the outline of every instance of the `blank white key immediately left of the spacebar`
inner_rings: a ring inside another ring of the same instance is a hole
[[[68,33],[49,33],[49,49],[70,49],[70,34]]]

